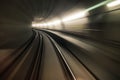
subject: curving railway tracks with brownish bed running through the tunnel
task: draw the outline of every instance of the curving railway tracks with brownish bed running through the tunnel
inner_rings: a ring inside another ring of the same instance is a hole
[[[0,80],[96,80],[48,34],[33,36],[0,61]]]

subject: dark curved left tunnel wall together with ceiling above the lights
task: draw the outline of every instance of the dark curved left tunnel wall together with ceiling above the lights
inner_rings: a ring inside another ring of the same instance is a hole
[[[16,48],[32,35],[34,17],[48,18],[69,9],[79,0],[1,0],[0,48]],[[71,4],[71,5],[69,5]],[[57,6],[57,7],[56,7]],[[57,13],[56,13],[57,11]]]

